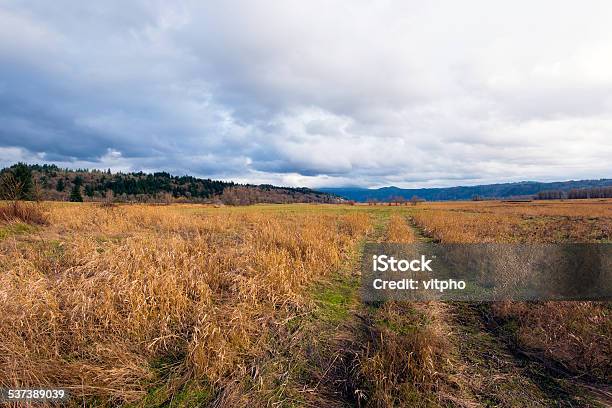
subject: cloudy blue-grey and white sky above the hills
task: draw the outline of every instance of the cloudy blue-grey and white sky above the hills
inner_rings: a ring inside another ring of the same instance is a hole
[[[0,165],[612,177],[612,2],[0,0]]]

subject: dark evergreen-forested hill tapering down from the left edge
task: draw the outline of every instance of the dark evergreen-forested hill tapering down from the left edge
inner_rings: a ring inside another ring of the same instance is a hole
[[[19,163],[0,171],[23,180],[24,198],[118,202],[220,202],[225,204],[339,202],[337,196],[308,188],[242,185],[192,176],[157,173],[111,173],[110,170],[63,169]],[[30,181],[28,181],[30,180]],[[6,183],[5,183],[6,184]],[[3,187],[3,186],[0,186]]]

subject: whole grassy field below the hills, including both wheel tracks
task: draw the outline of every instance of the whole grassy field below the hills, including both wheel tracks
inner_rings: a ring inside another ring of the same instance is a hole
[[[611,305],[364,305],[373,242],[612,242],[612,201],[42,203],[0,223],[0,387],[73,406],[606,406]]]

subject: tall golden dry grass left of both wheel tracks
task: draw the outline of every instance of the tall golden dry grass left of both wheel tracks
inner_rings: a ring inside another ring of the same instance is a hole
[[[0,386],[138,401],[240,379],[370,228],[364,213],[55,204],[0,252]],[[167,379],[166,379],[167,380]]]

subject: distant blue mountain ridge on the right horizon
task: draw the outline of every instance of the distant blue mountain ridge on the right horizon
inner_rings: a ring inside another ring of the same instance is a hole
[[[518,183],[485,184],[479,186],[458,186],[443,188],[399,188],[383,187],[378,189],[338,187],[319,188],[319,191],[331,193],[346,198],[365,202],[370,199],[387,201],[392,197],[403,197],[410,199],[413,196],[424,198],[427,201],[451,201],[471,200],[473,197],[480,198],[531,198],[542,191],[560,190],[569,191],[573,189],[609,187],[612,179],[600,180],[571,180],[557,181],[552,183],[540,183],[537,181],[521,181]]]

